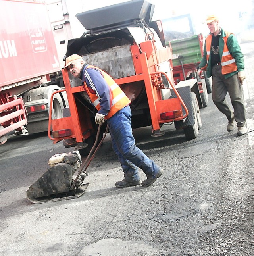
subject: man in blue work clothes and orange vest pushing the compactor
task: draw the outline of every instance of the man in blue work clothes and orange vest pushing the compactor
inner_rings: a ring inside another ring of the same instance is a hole
[[[131,101],[119,85],[98,67],[85,64],[77,54],[66,58],[64,71],[69,71],[73,77],[82,81],[87,95],[98,110],[95,123],[108,123],[112,148],[124,172],[124,179],[117,181],[115,186],[124,188],[140,185],[138,167],[146,174],[141,185],[148,187],[154,183],[163,170],[135,145],[131,128]]]

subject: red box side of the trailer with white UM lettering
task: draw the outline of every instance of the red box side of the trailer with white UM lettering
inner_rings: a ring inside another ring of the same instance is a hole
[[[46,4],[0,0],[1,87],[59,71]]]

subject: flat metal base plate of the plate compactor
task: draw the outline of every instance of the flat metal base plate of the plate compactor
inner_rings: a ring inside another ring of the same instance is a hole
[[[34,203],[34,204],[42,204],[42,203],[47,203],[47,202],[56,202],[56,201],[61,201],[61,200],[68,200],[68,199],[73,199],[73,198],[78,198],[82,196],[85,193],[85,190],[89,186],[89,183],[82,184],[76,192],[70,191],[68,193],[62,193],[62,194],[54,194],[51,196],[43,196],[43,197],[38,197],[35,198],[29,190],[26,191],[27,194],[27,199]]]

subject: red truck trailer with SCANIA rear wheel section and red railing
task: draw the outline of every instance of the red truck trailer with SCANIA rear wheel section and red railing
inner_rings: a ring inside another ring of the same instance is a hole
[[[49,101],[62,71],[44,2],[0,0],[0,144],[6,134],[48,130]],[[51,78],[57,79],[52,81]],[[55,84],[54,84],[55,83]],[[58,83],[58,85],[57,85]],[[48,85],[50,84],[50,85]],[[54,118],[66,107],[53,99]]]

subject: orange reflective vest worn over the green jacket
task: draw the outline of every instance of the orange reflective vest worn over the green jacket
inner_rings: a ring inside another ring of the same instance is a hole
[[[225,34],[226,34],[226,36],[223,37],[224,48],[223,48],[222,57],[221,57],[221,73],[223,75],[229,74],[229,73],[234,72],[234,71],[237,71],[237,65],[235,63],[235,59],[233,58],[233,56],[229,52],[229,49],[227,48],[227,38],[232,33],[229,33],[227,31],[225,31]],[[206,70],[206,67],[208,65],[211,43],[212,43],[212,35],[210,34],[206,38],[206,65],[201,68],[203,70]]]

